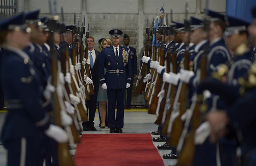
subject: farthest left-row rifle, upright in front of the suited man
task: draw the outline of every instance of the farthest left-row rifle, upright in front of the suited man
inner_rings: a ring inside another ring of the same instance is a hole
[[[89,35],[89,24],[87,25],[87,30],[88,31],[86,32],[86,35],[85,35],[85,40],[86,40],[86,43],[85,43],[85,58],[89,59],[89,55],[88,55],[89,50],[88,50],[88,43],[87,43],[87,38],[90,36]],[[85,65],[85,73],[86,73],[87,77],[91,78],[91,80],[92,80],[92,73],[91,73],[91,68],[90,68],[89,64]],[[86,77],[86,79],[87,79],[87,77]],[[94,94],[94,85],[93,85],[93,83],[89,84],[89,94]]]

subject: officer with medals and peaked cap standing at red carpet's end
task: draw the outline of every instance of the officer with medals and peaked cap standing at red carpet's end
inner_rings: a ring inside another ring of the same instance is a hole
[[[103,48],[100,56],[100,84],[107,89],[108,126],[110,133],[122,133],[124,126],[125,88],[131,85],[131,57],[128,48],[120,46],[122,31],[109,31],[112,46]],[[104,74],[106,68],[106,74]],[[117,117],[115,104],[117,102]]]

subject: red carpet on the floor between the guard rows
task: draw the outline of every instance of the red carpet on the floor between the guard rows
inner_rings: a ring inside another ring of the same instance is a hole
[[[76,166],[164,166],[150,134],[83,134]]]

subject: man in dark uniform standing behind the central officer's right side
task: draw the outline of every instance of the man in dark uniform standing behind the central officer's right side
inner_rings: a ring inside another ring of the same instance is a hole
[[[134,82],[134,75],[137,75],[137,56],[136,49],[129,46],[130,37],[128,35],[124,35],[124,45],[130,50],[129,53],[131,55],[131,86],[127,88],[127,99],[126,99],[126,108],[131,109],[131,93]]]

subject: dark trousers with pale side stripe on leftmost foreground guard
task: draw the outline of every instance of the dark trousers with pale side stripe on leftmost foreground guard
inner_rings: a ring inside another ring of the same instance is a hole
[[[42,142],[38,138],[17,138],[7,141],[7,166],[41,166]]]

